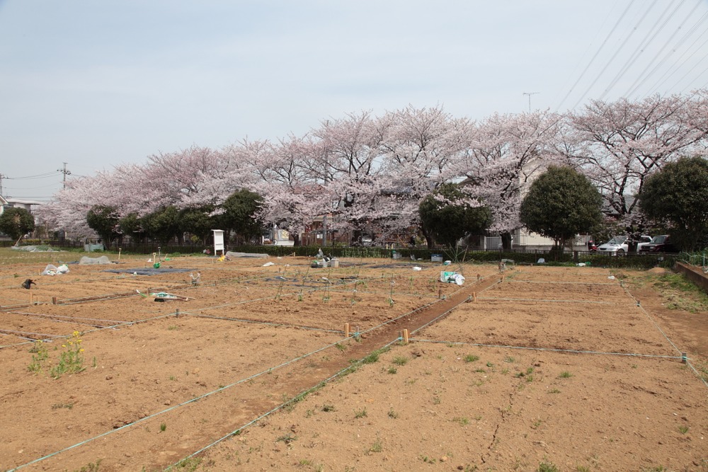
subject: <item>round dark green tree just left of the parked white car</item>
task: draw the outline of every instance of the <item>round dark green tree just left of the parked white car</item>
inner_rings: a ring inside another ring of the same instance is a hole
[[[600,225],[603,197],[583,174],[550,166],[521,202],[520,221],[529,231],[552,238],[560,251],[578,233]]]

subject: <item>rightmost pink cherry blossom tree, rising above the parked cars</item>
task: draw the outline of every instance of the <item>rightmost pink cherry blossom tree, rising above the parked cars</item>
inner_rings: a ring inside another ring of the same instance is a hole
[[[693,154],[708,136],[705,96],[651,96],[639,101],[593,100],[569,115],[568,156],[603,193],[605,205],[629,232],[639,221],[636,194],[646,177]]]

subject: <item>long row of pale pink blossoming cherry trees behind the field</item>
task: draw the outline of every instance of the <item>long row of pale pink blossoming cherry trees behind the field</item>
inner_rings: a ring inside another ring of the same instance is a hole
[[[246,189],[263,197],[258,214],[265,225],[297,234],[331,214],[328,226],[340,234],[374,228],[385,238],[419,226],[421,202],[440,185],[469,180],[466,192],[491,209],[489,231],[508,247],[523,226],[520,204],[535,176],[550,165],[570,165],[634,230],[641,216],[634,196],[646,177],[708,146],[707,109],[704,89],[477,121],[439,106],[350,113],[300,136],[241,139],[220,149],[191,146],[72,178],[35,214],[50,228],[89,235],[91,205],[112,207],[119,218],[171,206],[210,217],[234,189]],[[202,227],[204,220],[190,217]]]

